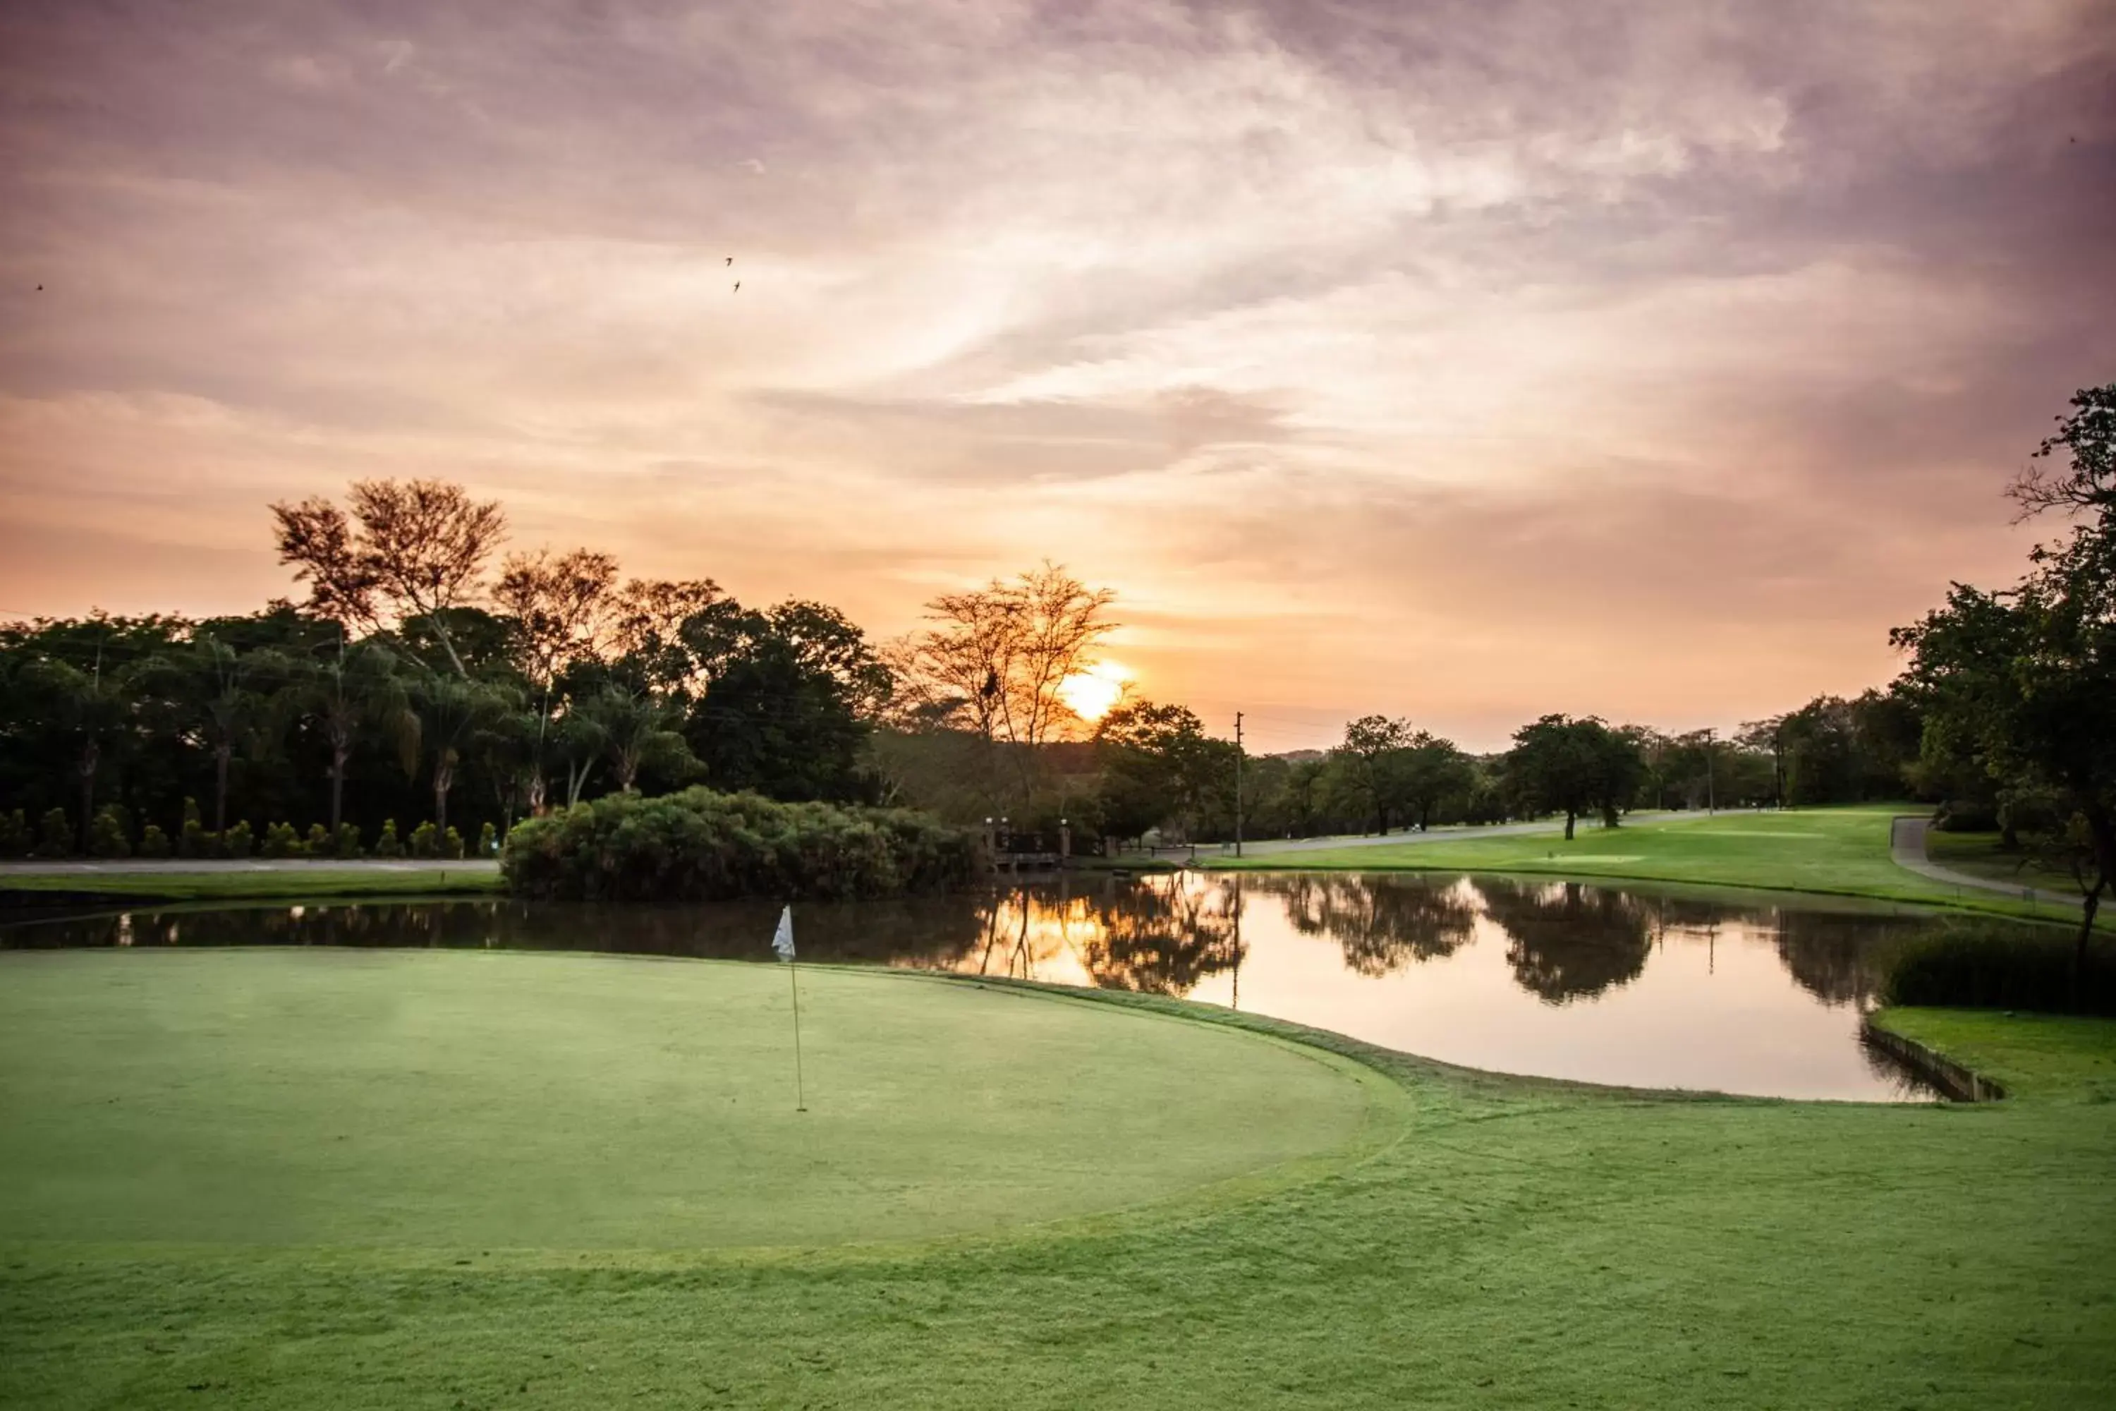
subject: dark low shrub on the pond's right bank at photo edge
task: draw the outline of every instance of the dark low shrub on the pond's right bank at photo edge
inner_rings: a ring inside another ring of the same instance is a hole
[[[2116,1015],[2116,956],[2061,931],[1953,922],[1904,941],[1887,960],[1890,1005],[2036,1009]]]

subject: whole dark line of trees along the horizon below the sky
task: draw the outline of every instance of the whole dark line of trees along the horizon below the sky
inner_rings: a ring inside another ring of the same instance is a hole
[[[1183,704],[1083,719],[1066,683],[1117,630],[1115,594],[1054,563],[872,643],[825,603],[624,578],[592,548],[501,554],[499,503],[362,480],[273,506],[303,603],[0,628],[0,850],[453,853],[694,783],[1206,842],[1911,795],[2061,853],[2093,910],[2116,876],[2112,427],[2116,385],[2074,398],[2012,487],[2067,535],[2017,586],[1957,584],[1898,628],[1887,688],[1727,736],[1553,713],[1490,755],[1388,715],[1248,759]]]

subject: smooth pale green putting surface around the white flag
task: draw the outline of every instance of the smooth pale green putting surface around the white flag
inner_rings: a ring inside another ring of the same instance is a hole
[[[1363,1068],[1227,1028],[800,984],[806,1113],[781,967],[0,956],[0,1244],[925,1240],[1327,1168],[1394,1111]]]

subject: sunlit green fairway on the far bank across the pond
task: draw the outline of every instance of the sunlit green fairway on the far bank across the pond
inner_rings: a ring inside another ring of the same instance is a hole
[[[1280,857],[1212,859],[1212,867],[1335,872],[1509,872],[1576,878],[1631,878],[1699,886],[1758,886],[1915,901],[2004,916],[2055,918],[2050,905],[2029,908],[2000,893],[1934,882],[1890,861],[1890,819],[1913,806],[1794,808],[1716,819],[1644,819],[1623,827],[1581,827],[1572,842],[1557,833],[1471,838],[1462,842],[1325,848]]]

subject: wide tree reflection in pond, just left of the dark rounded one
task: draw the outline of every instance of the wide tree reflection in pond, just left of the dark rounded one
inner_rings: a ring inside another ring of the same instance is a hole
[[[1251,886],[1278,895],[1301,935],[1337,941],[1356,975],[1441,960],[1477,935],[1477,908],[1452,878],[1289,874]]]

